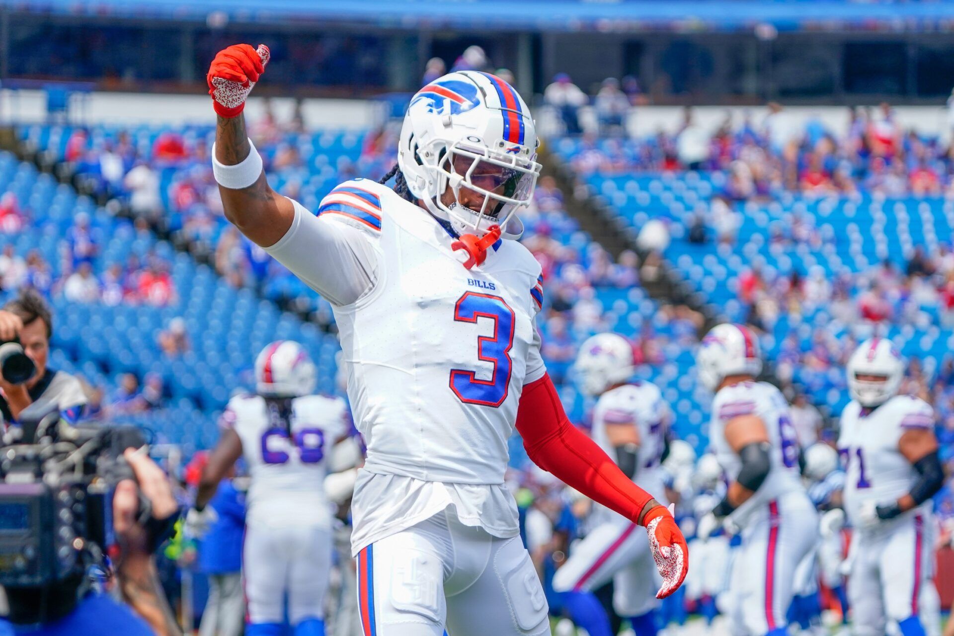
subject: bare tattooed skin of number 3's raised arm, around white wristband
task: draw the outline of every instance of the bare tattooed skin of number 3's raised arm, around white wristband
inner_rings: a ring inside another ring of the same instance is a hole
[[[245,115],[217,116],[216,158],[226,166],[234,166],[248,156],[252,147],[245,133]],[[225,217],[262,247],[269,247],[288,232],[295,218],[291,200],[279,195],[268,185],[265,173],[248,188],[232,190],[218,186]]]

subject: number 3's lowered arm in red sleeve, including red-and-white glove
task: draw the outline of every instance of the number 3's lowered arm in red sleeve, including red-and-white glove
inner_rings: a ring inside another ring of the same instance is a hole
[[[657,598],[669,596],[682,585],[689,569],[689,549],[673,515],[570,423],[549,375],[524,385],[516,426],[530,460],[593,501],[646,526],[663,578]]]

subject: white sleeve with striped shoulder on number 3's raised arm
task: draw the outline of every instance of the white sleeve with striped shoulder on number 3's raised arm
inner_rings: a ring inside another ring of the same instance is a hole
[[[380,199],[354,184],[345,181],[325,196],[318,215],[293,200],[295,218],[291,227],[277,243],[265,248],[309,287],[340,307],[358,300],[378,279]]]

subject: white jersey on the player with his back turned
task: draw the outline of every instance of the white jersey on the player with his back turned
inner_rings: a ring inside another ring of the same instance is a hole
[[[249,519],[331,523],[324,496],[325,459],[335,440],[347,432],[347,422],[347,406],[340,398],[293,399],[287,426],[260,396],[229,400],[221,425],[241,439],[251,476]]]

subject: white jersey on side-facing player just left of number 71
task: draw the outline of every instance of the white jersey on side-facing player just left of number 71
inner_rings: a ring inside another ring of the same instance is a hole
[[[761,419],[772,450],[771,469],[765,482],[762,482],[756,494],[733,513],[733,519],[742,525],[746,523],[750,511],[760,509],[782,495],[805,492],[798,474],[798,437],[792,426],[788,401],[768,382],[738,382],[716,393],[709,441],[729,480],[736,481],[742,462],[725,440],[725,425],[743,415],[756,415]]]

